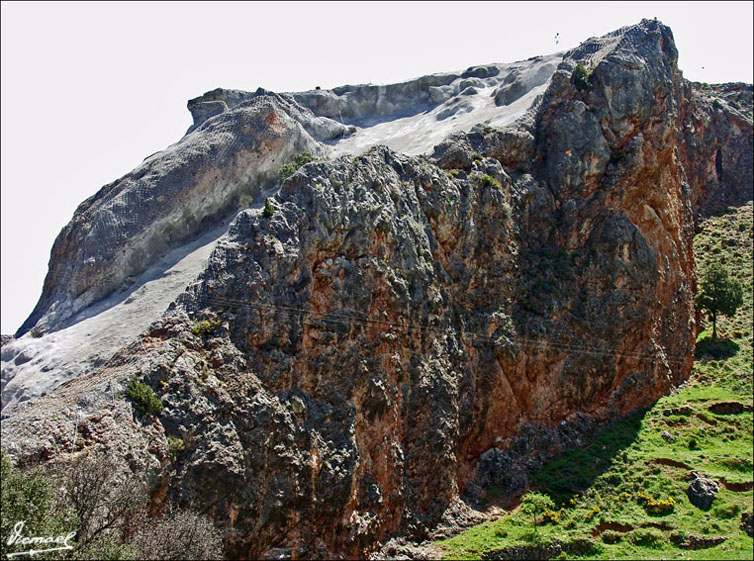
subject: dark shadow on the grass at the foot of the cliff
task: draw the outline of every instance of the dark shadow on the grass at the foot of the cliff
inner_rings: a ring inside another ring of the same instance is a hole
[[[569,450],[547,462],[531,478],[533,485],[547,493],[557,504],[567,504],[576,494],[591,487],[595,480],[614,464],[626,457],[626,450],[633,444],[642,426],[646,410],[634,413],[610,425],[587,446]],[[617,486],[618,470],[612,470],[606,481]]]

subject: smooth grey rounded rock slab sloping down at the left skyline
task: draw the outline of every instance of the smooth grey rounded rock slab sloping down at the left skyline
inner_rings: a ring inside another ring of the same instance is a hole
[[[281,96],[256,96],[81,203],[55,240],[42,297],[17,336],[61,327],[236,210],[240,195],[258,198],[292,154],[317,152],[292,111]]]

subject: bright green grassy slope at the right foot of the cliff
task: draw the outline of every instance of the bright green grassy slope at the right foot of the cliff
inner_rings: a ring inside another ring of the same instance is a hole
[[[564,559],[751,559],[752,538],[739,526],[741,513],[752,512],[752,234],[749,203],[707,220],[694,240],[698,270],[722,261],[744,283],[744,305],[719,322],[717,343],[711,324],[699,334],[688,382],[535,474],[533,484],[556,504],[547,521],[533,526],[510,512],[436,542],[445,558],[478,559],[511,546],[536,557],[534,547],[559,541],[577,545],[560,553]],[[748,410],[710,410],[727,401]],[[723,483],[709,511],[686,496],[692,470]],[[712,545],[710,538],[725,539]]]

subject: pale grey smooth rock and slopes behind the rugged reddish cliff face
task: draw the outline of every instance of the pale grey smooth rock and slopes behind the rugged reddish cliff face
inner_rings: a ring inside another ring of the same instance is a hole
[[[103,188],[59,236],[42,298],[19,339],[3,351],[4,414],[92,372],[159,317],[163,302],[185,286],[180,279],[191,272],[186,264],[199,261],[197,245],[211,235],[214,242],[221,233],[213,232],[240,208],[261,206],[293,154],[336,157],[382,143],[416,155],[476,123],[504,125],[531,109],[561,58],[471,67],[388,86],[293,94],[219,88],[190,100],[194,124],[186,136]],[[498,106],[494,92],[511,82],[520,97]],[[219,226],[210,228],[213,223]],[[193,275],[200,270],[195,267]],[[107,329],[114,324],[117,333]]]

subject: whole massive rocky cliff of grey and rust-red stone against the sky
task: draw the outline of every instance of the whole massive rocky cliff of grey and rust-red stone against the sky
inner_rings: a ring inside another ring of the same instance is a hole
[[[237,557],[358,557],[472,518],[689,373],[695,213],[752,196],[752,97],[676,62],[645,20],[394,86],[192,100],[183,140],[77,211],[21,332],[65,331],[230,212],[227,234],[104,365],[26,403],[4,374],[4,446],[104,446]],[[304,149],[331,159],[278,185]],[[30,337],[3,347],[18,380]],[[120,397],[133,376],[159,416]]]

